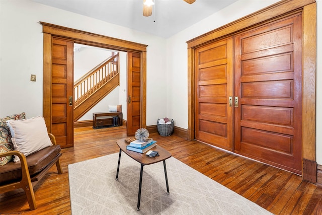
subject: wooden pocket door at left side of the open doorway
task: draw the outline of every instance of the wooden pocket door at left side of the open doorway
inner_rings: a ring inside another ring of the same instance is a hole
[[[52,40],[52,109],[51,132],[62,148],[73,146],[73,42]]]

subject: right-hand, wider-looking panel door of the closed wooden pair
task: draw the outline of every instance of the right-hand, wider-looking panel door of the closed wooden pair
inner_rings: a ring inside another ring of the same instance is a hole
[[[234,37],[235,152],[298,174],[301,30],[294,16]]]

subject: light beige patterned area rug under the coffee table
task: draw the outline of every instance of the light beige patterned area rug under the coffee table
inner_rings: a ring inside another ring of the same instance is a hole
[[[271,214],[175,158],[144,166],[136,210],[140,164],[118,153],[68,165],[71,212],[80,214]]]

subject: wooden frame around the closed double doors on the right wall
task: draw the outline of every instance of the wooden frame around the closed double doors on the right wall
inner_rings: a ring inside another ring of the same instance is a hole
[[[315,154],[315,89],[316,89],[316,3],[315,0],[283,0],[238,19],[206,34],[187,41],[188,44],[188,139],[194,139],[195,130],[195,49],[211,41],[233,35],[269,20],[302,12],[302,176],[316,183]],[[315,169],[314,169],[315,165]]]

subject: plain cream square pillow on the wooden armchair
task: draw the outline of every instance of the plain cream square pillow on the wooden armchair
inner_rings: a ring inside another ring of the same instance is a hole
[[[25,156],[52,146],[48,136],[45,119],[41,116],[25,120],[8,120],[15,150]],[[15,156],[14,162],[19,161]]]

